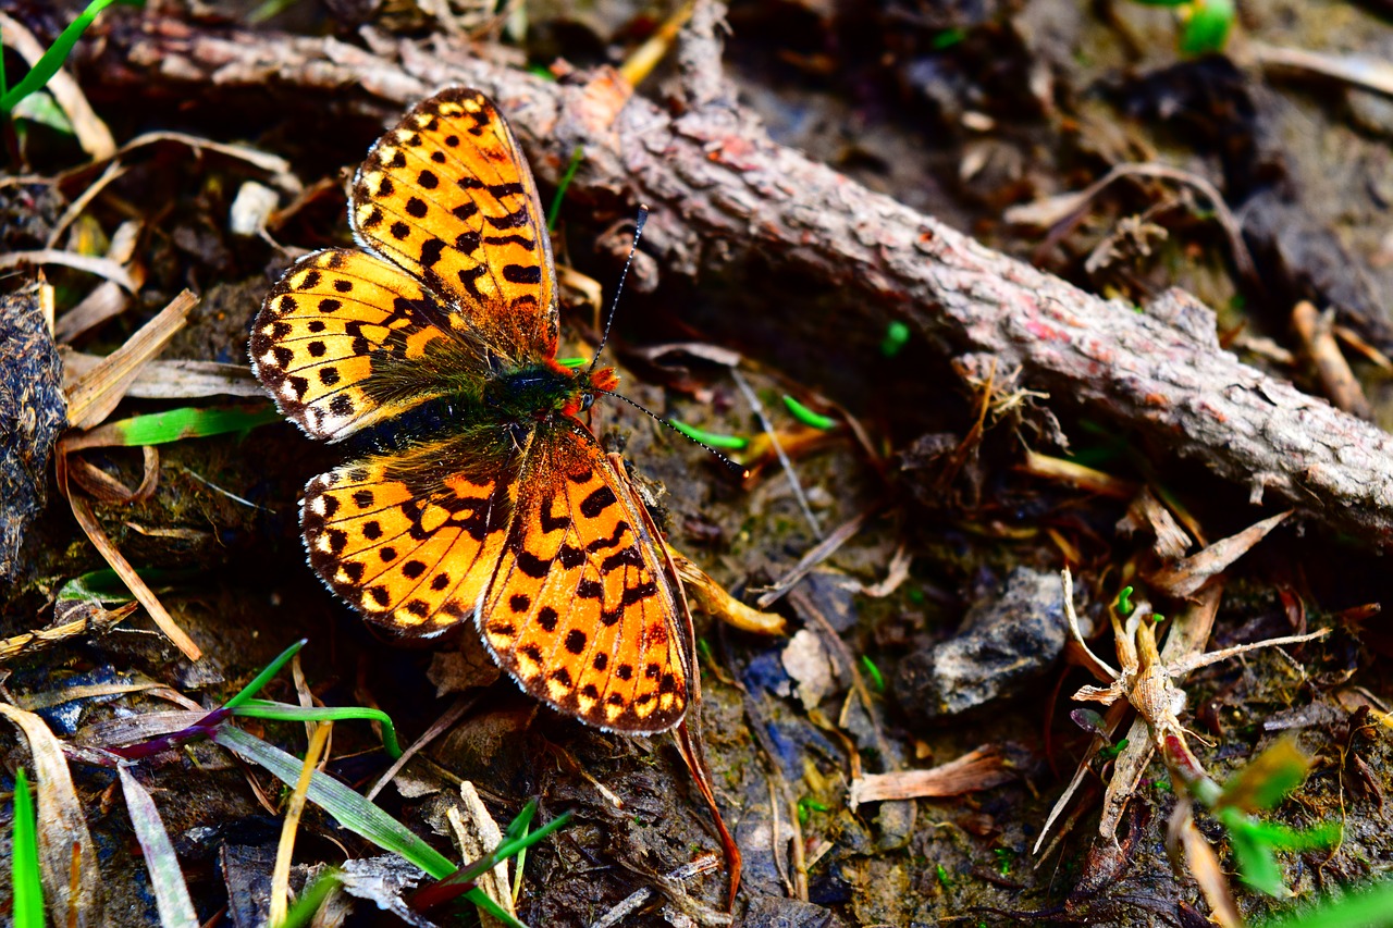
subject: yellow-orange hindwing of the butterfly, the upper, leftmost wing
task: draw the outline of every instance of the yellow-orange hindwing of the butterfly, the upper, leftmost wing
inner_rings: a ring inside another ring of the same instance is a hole
[[[341,439],[444,392],[444,382],[421,376],[428,355],[447,346],[458,354],[458,340],[436,325],[443,318],[393,265],[357,249],[315,252],[266,295],[252,366],[286,418],[313,438]]]

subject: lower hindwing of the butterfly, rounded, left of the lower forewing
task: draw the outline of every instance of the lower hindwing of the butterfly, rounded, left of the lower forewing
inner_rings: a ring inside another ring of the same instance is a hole
[[[458,440],[376,456],[305,488],[309,563],[366,619],[433,637],[474,614],[503,553],[517,492],[514,457],[462,468]]]

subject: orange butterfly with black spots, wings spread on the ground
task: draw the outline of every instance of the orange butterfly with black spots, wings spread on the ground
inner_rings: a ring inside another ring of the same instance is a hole
[[[478,91],[423,100],[369,150],[348,217],[359,247],[295,262],[251,336],[281,414],[364,449],[305,486],[309,564],[398,637],[472,619],[566,715],[678,725],[690,613],[648,510],[578,418],[617,376],[557,362],[550,238],[507,121]]]

